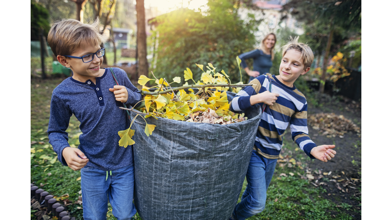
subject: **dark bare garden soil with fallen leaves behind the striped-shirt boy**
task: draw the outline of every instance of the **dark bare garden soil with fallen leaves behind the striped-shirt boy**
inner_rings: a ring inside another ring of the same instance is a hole
[[[308,119],[312,115],[324,113],[325,115],[338,116],[348,120],[360,129],[360,101],[342,97],[340,97],[340,101],[337,101],[332,100],[328,95],[323,95],[318,99],[318,102],[323,103],[323,106],[309,106]],[[325,134],[325,131],[317,130],[317,126],[317,124],[311,124],[308,120],[309,136],[317,146],[334,144],[336,155],[328,162],[317,159],[307,160],[303,167],[308,174],[314,177],[311,180],[314,187],[323,187],[326,190],[326,193],[322,194],[325,199],[334,202],[342,212],[346,212],[354,219],[361,219],[361,134],[353,130],[347,131],[344,135],[333,135],[331,132]],[[290,132],[286,132],[284,138],[291,140]],[[344,204],[344,206],[341,204]],[[357,209],[357,212],[354,212],[353,209]],[[334,211],[330,213],[337,214]]]

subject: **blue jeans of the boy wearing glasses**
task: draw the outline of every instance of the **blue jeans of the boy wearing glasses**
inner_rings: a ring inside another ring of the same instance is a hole
[[[136,214],[133,200],[134,166],[106,172],[95,168],[82,168],[81,186],[83,218],[104,220],[108,212],[108,198],[113,215],[119,220],[131,219]],[[106,179],[107,178],[107,179]]]

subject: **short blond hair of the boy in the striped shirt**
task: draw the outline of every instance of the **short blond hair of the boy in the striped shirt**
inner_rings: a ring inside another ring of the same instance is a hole
[[[310,49],[310,47],[307,44],[304,43],[299,43],[298,39],[300,36],[297,36],[295,38],[292,38],[291,36],[289,37],[289,41],[287,42],[286,45],[284,45],[282,48],[282,54],[284,57],[284,54],[290,49],[296,49],[299,52],[301,52],[301,58],[304,59],[304,69],[310,67],[313,63],[313,51]]]

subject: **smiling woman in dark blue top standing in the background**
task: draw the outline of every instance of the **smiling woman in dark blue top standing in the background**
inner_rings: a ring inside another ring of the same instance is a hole
[[[241,59],[243,69],[250,76],[249,81],[264,73],[269,73],[274,60],[274,47],[276,44],[276,35],[274,33],[267,34],[261,41],[259,48],[249,52],[242,53],[238,56]],[[253,59],[253,70],[248,68],[245,60]]]

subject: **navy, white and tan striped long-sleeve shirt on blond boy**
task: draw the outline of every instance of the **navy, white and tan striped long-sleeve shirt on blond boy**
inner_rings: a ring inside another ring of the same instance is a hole
[[[316,144],[308,135],[306,98],[296,87],[283,85],[275,75],[260,75],[250,82],[255,86],[248,86],[238,92],[230,103],[230,110],[241,112],[249,108],[252,95],[268,90],[270,82],[267,77],[272,78],[272,92],[278,93],[279,97],[274,105],[265,107],[258,126],[254,150],[265,158],[277,159],[282,149],[282,136],[290,125],[292,140],[314,159],[310,151]]]

